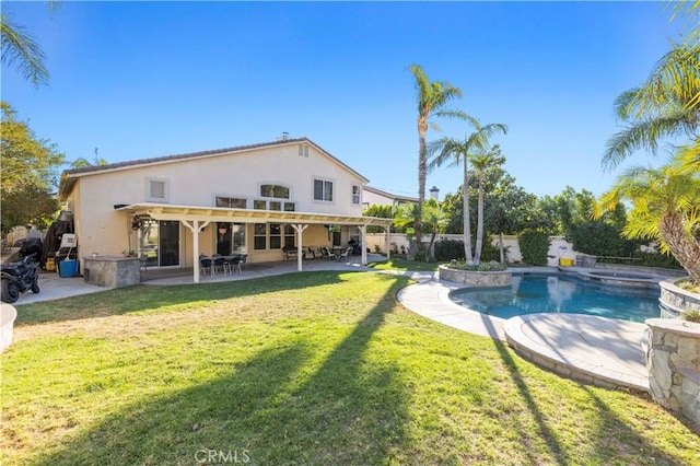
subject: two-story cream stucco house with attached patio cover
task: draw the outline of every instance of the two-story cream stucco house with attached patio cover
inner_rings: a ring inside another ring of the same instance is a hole
[[[149,267],[194,269],[200,254],[242,252],[252,263],[296,247],[362,245],[368,179],[307,138],[136,160],[63,172],[81,257],[132,252]]]

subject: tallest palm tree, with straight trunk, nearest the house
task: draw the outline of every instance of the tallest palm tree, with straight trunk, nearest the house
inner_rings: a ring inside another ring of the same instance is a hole
[[[454,98],[462,98],[462,91],[445,81],[430,81],[419,65],[409,67],[416,80],[416,101],[418,104],[418,212],[416,215],[416,241],[418,251],[422,251],[422,211],[425,199],[425,178],[428,176],[428,155],[425,147],[425,133],[428,126],[439,129],[429,123],[430,117],[458,117],[468,118],[459,110],[445,108]]]

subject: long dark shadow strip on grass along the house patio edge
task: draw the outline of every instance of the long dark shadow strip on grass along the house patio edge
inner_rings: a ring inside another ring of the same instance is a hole
[[[313,287],[342,283],[345,281],[342,275],[346,273],[361,272],[322,270],[217,283],[183,286],[137,284],[61,300],[21,305],[18,307],[15,327],[124,315],[158,310],[164,306],[254,296],[276,291],[310,289],[310,292],[313,292]]]

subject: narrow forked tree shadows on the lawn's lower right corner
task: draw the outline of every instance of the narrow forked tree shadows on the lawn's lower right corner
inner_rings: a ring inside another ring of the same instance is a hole
[[[485,323],[486,325],[490,325],[488,319],[485,319]],[[537,431],[534,433],[525,424],[520,427],[518,430],[523,439],[537,436],[544,440],[556,464],[605,464],[612,461],[616,464],[632,464],[639,459],[640,451],[644,451],[646,457],[650,458],[649,464],[685,464],[681,458],[674,457],[667,452],[660,450],[651,444],[644,435],[635,432],[628,422],[614,415],[605,401],[582,383],[578,383],[579,387],[591,396],[597,408],[595,418],[598,421],[598,432],[592,432],[591,434],[591,439],[596,441],[595,447],[590,448],[593,452],[592,457],[583,456],[581,450],[571,450],[571,447],[562,444],[559,440],[559,432],[553,431],[548,424],[536,397],[533,396],[528,388],[527,381],[517,370],[513,353],[506,343],[499,339],[493,339],[493,345],[504,365],[508,368],[509,375],[517,387],[521,398],[532,413],[532,418],[537,427]],[[556,401],[550,400],[549,403]],[[629,458],[625,457],[626,452],[630,454]],[[528,453],[528,455],[532,464],[541,463],[541,458],[534,457],[530,453]]]

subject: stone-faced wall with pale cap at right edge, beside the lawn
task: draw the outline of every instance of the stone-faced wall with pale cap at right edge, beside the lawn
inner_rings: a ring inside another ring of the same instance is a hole
[[[664,408],[700,429],[700,324],[650,318],[646,350],[650,392]]]

